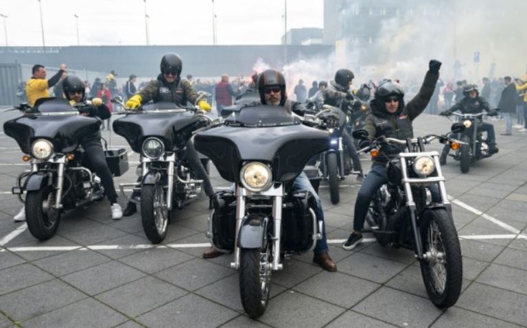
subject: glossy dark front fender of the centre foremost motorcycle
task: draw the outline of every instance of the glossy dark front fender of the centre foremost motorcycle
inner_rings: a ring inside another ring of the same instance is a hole
[[[267,239],[268,218],[263,215],[249,215],[239,229],[239,248],[263,248]]]

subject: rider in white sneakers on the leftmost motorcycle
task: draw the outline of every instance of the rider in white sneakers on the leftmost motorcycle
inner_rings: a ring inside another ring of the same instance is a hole
[[[85,102],[85,86],[84,82],[75,75],[67,76],[62,82],[66,99],[69,100],[69,104]],[[91,99],[91,106],[87,112],[81,113],[82,115],[89,117],[99,117],[99,119],[108,119],[110,117],[110,110],[106,105],[103,104],[102,99],[93,98]],[[102,186],[104,187],[104,194],[110,201],[110,209],[112,213],[112,219],[118,220],[123,216],[123,209],[117,202],[117,192],[115,191],[115,185],[113,183],[112,173],[106,163],[106,157],[104,156],[104,150],[101,143],[101,132],[97,131],[93,134],[89,134],[80,143],[84,149],[85,158],[89,160],[91,169],[95,171],[97,176],[101,178]],[[14,218],[15,221],[25,221],[25,207],[21,209],[18,215],[19,218]]]

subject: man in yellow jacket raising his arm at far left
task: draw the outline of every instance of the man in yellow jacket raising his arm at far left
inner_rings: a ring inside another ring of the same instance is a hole
[[[46,68],[43,65],[34,65],[31,70],[32,77],[25,84],[27,104],[33,106],[37,99],[49,97],[49,88],[57,84],[66,72],[66,64],[60,65],[59,71],[49,80],[46,80]]]

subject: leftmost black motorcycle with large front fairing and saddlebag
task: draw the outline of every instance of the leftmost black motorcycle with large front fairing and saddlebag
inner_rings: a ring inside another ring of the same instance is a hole
[[[66,99],[43,98],[33,108],[16,107],[24,115],[3,124],[5,134],[26,154],[23,160],[31,164],[16,179],[12,193],[25,202],[27,227],[37,239],[56,233],[63,211],[104,196],[101,180],[86,165],[89,159],[80,147],[86,135],[99,131],[101,121],[80,115],[84,108],[72,107]],[[114,176],[128,170],[126,150],[107,150],[106,156],[113,162],[109,166]]]

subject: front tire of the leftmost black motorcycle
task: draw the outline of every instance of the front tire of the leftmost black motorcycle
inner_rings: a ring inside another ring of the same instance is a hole
[[[55,235],[60,223],[60,209],[53,208],[55,189],[47,186],[37,191],[27,191],[25,196],[25,221],[27,229],[39,240]]]

